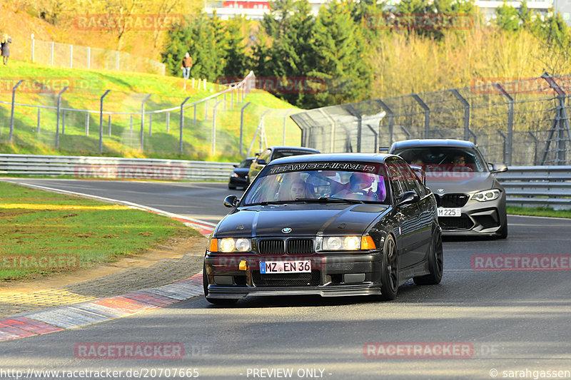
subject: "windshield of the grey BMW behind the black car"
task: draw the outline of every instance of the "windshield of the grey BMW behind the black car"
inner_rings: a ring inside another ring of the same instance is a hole
[[[473,149],[423,147],[395,150],[407,163],[422,167],[428,174],[445,172],[486,172],[484,160]]]

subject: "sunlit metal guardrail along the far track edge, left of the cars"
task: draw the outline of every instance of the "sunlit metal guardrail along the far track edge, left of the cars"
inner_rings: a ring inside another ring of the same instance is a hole
[[[204,161],[0,154],[0,175],[223,181],[233,168],[233,163]]]

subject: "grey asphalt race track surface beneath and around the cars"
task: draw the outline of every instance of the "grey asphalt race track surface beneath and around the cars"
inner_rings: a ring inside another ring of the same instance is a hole
[[[225,195],[241,194],[216,183],[14,182],[211,222],[228,210]],[[507,240],[445,240],[443,282],[408,282],[393,302],[271,297],[217,307],[196,297],[132,317],[0,342],[0,379],[16,378],[17,372],[6,371],[22,371],[26,378],[29,370],[59,371],[64,379],[113,375],[107,370],[123,371],[108,379],[188,379],[197,373],[205,379],[571,379],[568,261],[562,270],[571,255],[571,220],[510,216],[508,222]],[[498,264],[502,255],[549,260],[540,269],[532,262],[514,269],[505,260]],[[486,257],[505,270],[480,270],[476,260]],[[77,351],[90,342],[108,344],[98,359],[83,359]],[[108,348],[133,342],[181,344],[184,354],[165,359],[159,350],[151,359],[125,359]],[[191,371],[173,376],[174,369]],[[27,379],[55,378],[40,375]]]

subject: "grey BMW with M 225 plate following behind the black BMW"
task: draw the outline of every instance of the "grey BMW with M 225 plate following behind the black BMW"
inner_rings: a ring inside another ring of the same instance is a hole
[[[505,190],[495,178],[507,166],[487,163],[463,140],[398,141],[390,153],[425,170],[444,235],[507,237]]]

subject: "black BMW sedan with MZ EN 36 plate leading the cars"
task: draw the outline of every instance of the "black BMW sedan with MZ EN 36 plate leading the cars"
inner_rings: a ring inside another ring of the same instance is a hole
[[[216,225],[204,257],[206,299],[373,295],[438,284],[436,200],[396,155],[298,155],[266,165]]]

